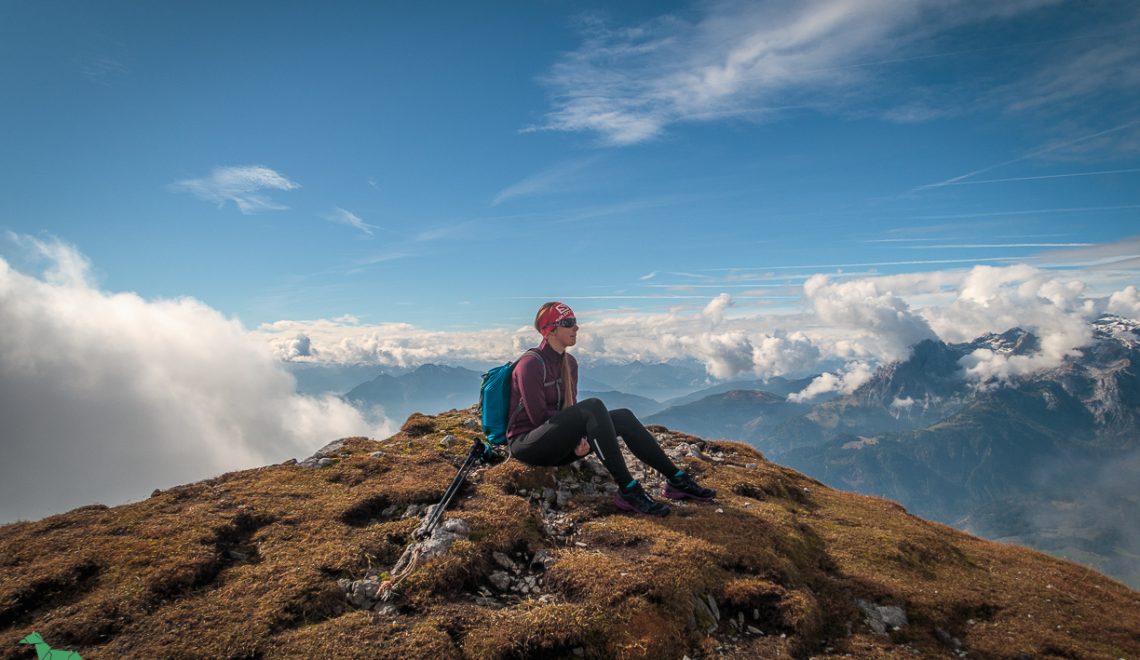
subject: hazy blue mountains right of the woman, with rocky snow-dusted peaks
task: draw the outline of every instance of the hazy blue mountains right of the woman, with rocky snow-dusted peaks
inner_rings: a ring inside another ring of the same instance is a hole
[[[804,406],[732,391],[649,418],[748,441],[825,483],[901,502],[988,538],[1023,543],[1140,585],[1140,324],[1104,317],[1061,366],[971,382],[962,358],[1032,356],[1013,328],[923,341],[850,394]]]

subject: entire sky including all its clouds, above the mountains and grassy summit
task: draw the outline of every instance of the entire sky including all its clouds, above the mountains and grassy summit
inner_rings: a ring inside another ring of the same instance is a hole
[[[282,360],[500,364],[551,299],[586,367],[801,400],[1013,326],[1041,352],[968,378],[1056,367],[1140,318],[1138,35],[1116,0],[2,2],[0,522],[384,437]]]

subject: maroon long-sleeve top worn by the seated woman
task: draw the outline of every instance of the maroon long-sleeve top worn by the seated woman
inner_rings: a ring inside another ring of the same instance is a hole
[[[543,340],[538,344],[539,360],[531,351],[523,353],[511,372],[511,424],[506,437],[516,438],[528,433],[562,409],[562,360],[570,360],[570,390],[578,400],[578,360],[570,353],[557,352]],[[522,410],[519,402],[522,401]],[[518,413],[515,413],[518,410]]]

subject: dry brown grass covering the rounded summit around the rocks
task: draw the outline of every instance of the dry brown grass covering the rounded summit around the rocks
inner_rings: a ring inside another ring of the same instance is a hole
[[[353,609],[336,580],[392,565],[418,523],[400,515],[438,500],[474,437],[469,417],[415,415],[319,470],[234,472],[0,528],[0,654],[31,657],[16,642],[38,630],[88,659],[953,658],[951,638],[974,658],[1140,657],[1140,594],[1123,585],[831,490],[733,442],[706,447],[722,461],[686,459],[716,503],[645,519],[576,495],[569,544],[519,495],[556,487],[555,471],[477,471],[449,513],[471,538],[413,573],[394,613]],[[556,559],[543,600],[478,600],[492,552],[538,549]],[[709,595],[718,624],[694,605]],[[876,635],[856,598],[902,605],[910,625]],[[765,634],[738,632],[740,614]]]

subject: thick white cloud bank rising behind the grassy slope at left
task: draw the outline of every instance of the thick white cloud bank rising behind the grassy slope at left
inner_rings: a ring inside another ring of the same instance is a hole
[[[263,341],[202,302],[99,291],[74,248],[18,241],[48,268],[0,259],[0,523],[391,432],[295,394]]]

